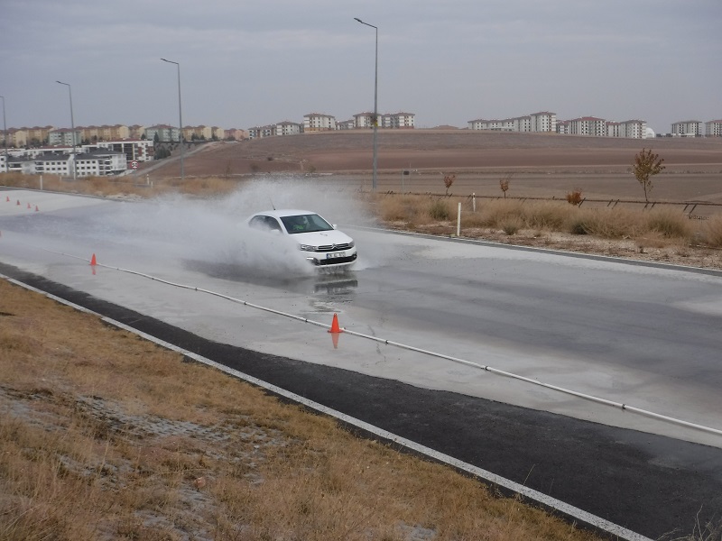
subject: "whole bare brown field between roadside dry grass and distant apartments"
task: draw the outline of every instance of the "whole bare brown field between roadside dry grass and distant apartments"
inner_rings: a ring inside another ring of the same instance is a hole
[[[509,197],[566,197],[572,189],[589,199],[641,199],[631,175],[634,155],[652,148],[666,170],[654,179],[650,200],[722,204],[722,138],[651,140],[489,133],[467,130],[380,131],[377,188],[415,193],[445,192],[444,174],[455,174],[457,196],[500,197],[499,180],[510,179]],[[246,178],[281,173],[370,188],[370,131],[306,133],[254,141],[205,145],[187,155],[185,175]],[[403,175],[403,170],[411,174]],[[332,179],[324,178],[329,174]],[[178,160],[151,178],[178,177]]]

